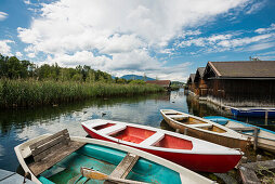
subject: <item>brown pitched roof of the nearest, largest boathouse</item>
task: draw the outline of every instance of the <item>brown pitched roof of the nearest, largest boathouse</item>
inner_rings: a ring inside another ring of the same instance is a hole
[[[275,78],[275,61],[208,62],[205,78]]]

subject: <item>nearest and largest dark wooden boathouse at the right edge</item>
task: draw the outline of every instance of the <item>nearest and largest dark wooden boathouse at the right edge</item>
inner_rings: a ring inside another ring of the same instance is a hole
[[[275,61],[208,62],[207,100],[230,106],[274,106]]]

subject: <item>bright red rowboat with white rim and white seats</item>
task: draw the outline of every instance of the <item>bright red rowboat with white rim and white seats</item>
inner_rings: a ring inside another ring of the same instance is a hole
[[[128,145],[195,171],[227,172],[243,156],[240,150],[147,126],[93,119],[82,127],[94,139]]]

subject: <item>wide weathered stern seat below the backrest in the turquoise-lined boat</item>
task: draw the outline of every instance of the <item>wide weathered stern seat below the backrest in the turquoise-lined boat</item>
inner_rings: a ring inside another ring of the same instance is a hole
[[[70,155],[73,152],[82,147],[84,144],[86,143],[70,141],[68,145],[63,145],[57,150],[48,155],[48,157],[43,158],[40,161],[32,162],[28,167],[35,175],[38,175]]]

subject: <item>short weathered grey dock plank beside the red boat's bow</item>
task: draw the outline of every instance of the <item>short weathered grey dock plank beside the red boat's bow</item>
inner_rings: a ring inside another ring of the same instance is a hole
[[[260,184],[260,180],[257,178],[253,170],[245,168],[243,166],[239,167],[239,174],[244,184]]]

